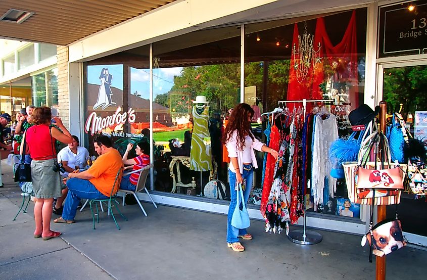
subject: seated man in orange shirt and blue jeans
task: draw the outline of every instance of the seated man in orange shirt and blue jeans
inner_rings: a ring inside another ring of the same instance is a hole
[[[110,138],[107,136],[95,137],[93,146],[100,156],[88,170],[68,174],[70,178],[67,180],[68,195],[65,199],[62,217],[54,220],[56,223],[74,223],[81,198],[107,199],[110,197],[117,172],[123,167],[122,157],[112,147]],[[120,179],[115,185],[113,195],[117,193],[119,185]]]

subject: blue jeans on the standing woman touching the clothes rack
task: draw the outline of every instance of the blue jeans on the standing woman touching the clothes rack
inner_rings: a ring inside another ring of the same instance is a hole
[[[254,171],[252,168],[252,164],[249,164],[249,165],[244,164],[243,168],[244,169],[243,169],[242,178],[246,179],[246,188],[245,188],[245,191],[243,191],[243,197],[245,199],[245,203],[247,203],[249,200],[249,194],[251,193],[251,189],[252,189],[252,180],[254,178]],[[250,169],[250,170],[248,171],[245,169]],[[230,179],[231,201],[230,201],[230,206],[228,208],[227,242],[234,243],[234,242],[239,242],[239,236],[246,235],[248,231],[246,231],[246,228],[239,229],[231,225],[231,217],[233,216],[233,212],[237,204],[237,201],[236,201],[237,192],[234,190],[235,183],[236,183],[236,174],[228,170],[228,177]],[[242,200],[242,198],[240,198],[240,200]],[[239,207],[240,209],[242,209],[243,207],[242,202],[240,203]]]

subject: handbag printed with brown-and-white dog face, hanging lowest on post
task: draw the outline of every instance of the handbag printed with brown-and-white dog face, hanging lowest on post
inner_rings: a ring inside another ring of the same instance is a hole
[[[369,262],[372,262],[372,254],[383,257],[406,246],[397,213],[396,219],[386,219],[370,227],[361,242],[362,247],[365,246],[366,241],[369,244]]]

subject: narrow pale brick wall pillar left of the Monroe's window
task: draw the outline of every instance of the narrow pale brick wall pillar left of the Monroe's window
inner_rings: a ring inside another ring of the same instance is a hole
[[[65,127],[70,129],[70,111],[69,111],[69,86],[68,86],[68,47],[57,47],[58,63],[58,103],[59,116]]]

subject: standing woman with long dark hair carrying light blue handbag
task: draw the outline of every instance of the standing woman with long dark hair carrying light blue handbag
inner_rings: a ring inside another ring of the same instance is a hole
[[[237,105],[230,115],[223,136],[228,157],[231,159],[228,167],[231,201],[227,219],[227,246],[235,252],[245,250],[245,247],[239,242],[239,238],[252,239],[252,235],[248,234],[246,230],[249,226],[249,215],[247,215],[245,204],[251,193],[253,168],[258,168],[254,149],[270,153],[274,158],[278,156],[277,151],[259,142],[252,134],[251,119],[253,115],[254,110],[248,104]],[[243,184],[244,180],[245,184]],[[235,218],[233,218],[234,212],[236,212]]]

